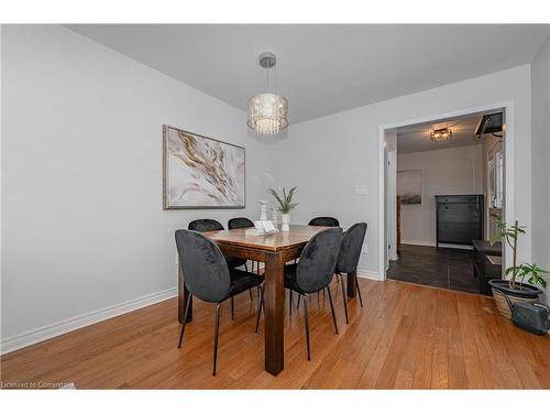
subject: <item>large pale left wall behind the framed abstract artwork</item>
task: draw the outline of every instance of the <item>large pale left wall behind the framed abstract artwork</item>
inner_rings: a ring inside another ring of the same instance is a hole
[[[65,28],[4,25],[2,86],[8,347],[34,328],[174,294],[175,229],[255,217],[266,197],[272,143],[249,134],[243,111]],[[246,209],[162,210],[163,123],[246,148]]]

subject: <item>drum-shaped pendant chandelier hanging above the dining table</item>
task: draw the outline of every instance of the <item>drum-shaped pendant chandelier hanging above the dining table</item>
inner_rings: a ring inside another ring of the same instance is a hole
[[[270,69],[277,59],[273,53],[260,55],[260,66],[267,69],[267,90],[270,90]],[[274,135],[288,126],[288,100],[277,94],[258,94],[246,105],[249,128],[262,135]]]

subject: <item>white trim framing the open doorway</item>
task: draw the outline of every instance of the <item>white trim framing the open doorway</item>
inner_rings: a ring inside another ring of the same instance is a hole
[[[504,140],[504,175],[505,175],[505,200],[504,200],[504,219],[507,222],[512,222],[515,220],[515,211],[514,211],[514,172],[515,172],[515,113],[514,113],[514,100],[506,100],[501,102],[495,102],[491,105],[477,106],[472,108],[459,109],[451,112],[443,112],[433,116],[416,118],[416,119],[407,119],[403,121],[397,121],[394,123],[386,123],[380,126],[378,132],[378,271],[382,280],[386,280],[386,271],[385,271],[385,246],[386,242],[386,231],[385,231],[385,219],[386,219],[386,210],[384,206],[384,198],[386,196],[386,187],[384,180],[384,169],[386,167],[384,162],[384,155],[386,150],[386,140],[385,140],[385,131],[387,129],[394,129],[399,127],[406,127],[408,124],[415,123],[424,123],[436,121],[443,118],[453,118],[470,113],[490,111],[494,109],[504,109],[505,122],[506,122],[506,137]],[[507,251],[506,248],[503,251],[505,267],[510,265],[510,251]]]

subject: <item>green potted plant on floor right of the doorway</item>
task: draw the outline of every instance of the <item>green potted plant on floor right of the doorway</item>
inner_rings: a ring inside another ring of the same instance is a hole
[[[497,232],[491,239],[491,244],[493,246],[496,241],[505,240],[506,243],[512,248],[514,253],[513,264],[508,267],[505,274],[509,276],[508,280],[491,280],[488,284],[493,290],[493,296],[495,297],[495,303],[498,312],[507,317],[512,317],[512,309],[508,304],[508,300],[512,304],[517,302],[536,302],[542,291],[537,286],[537,284],[542,287],[547,286],[547,282],[542,278],[547,270],[541,269],[537,264],[528,264],[517,262],[517,240],[518,237],[525,233],[525,227],[518,225],[518,221],[513,226],[506,226],[501,217],[497,220]],[[525,279],[528,282],[525,282]],[[518,281],[520,279],[520,281]]]

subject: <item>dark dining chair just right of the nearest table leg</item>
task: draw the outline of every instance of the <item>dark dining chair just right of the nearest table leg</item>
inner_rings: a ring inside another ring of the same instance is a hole
[[[300,297],[304,296],[308,360],[311,360],[309,347],[308,294],[327,289],[332,281],[341,242],[341,228],[323,229],[317,232],[308,241],[306,247],[304,247],[298,263],[285,265],[285,289],[298,293]],[[329,294],[332,320],[334,322],[334,333],[338,334],[338,323],[330,289],[327,289],[327,291]]]

